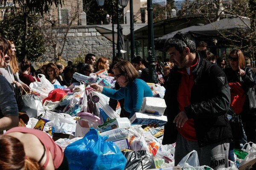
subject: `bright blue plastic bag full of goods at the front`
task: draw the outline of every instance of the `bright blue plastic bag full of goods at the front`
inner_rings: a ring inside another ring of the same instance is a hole
[[[113,142],[105,142],[108,136],[100,136],[90,128],[83,139],[69,144],[64,154],[70,170],[124,170],[126,159]]]

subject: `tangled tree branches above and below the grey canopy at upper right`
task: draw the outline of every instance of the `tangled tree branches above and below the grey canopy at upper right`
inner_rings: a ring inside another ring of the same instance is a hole
[[[236,31],[218,31],[223,45],[230,48],[239,48],[248,57],[256,54],[256,0],[186,0],[182,4],[180,15],[202,14],[210,22],[220,20],[221,17],[244,17],[250,19],[250,25]],[[214,18],[209,14],[215,14]],[[228,34],[227,34],[228,32]]]

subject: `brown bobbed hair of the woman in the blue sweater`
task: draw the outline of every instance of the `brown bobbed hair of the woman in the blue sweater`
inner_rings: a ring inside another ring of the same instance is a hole
[[[120,61],[116,65],[114,65],[114,69],[118,68],[120,74],[123,74],[128,82],[133,82],[139,76],[138,71],[134,68],[131,62],[128,61]]]

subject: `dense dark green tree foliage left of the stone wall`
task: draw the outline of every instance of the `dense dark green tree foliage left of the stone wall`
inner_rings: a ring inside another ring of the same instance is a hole
[[[24,59],[25,53],[27,59],[35,61],[44,54],[44,36],[37,27],[40,15],[27,15],[28,19],[28,35],[27,35],[27,51],[24,51],[24,23],[23,9],[12,8],[11,13],[0,22],[0,34],[8,40],[12,40],[16,45],[16,53],[19,61]]]

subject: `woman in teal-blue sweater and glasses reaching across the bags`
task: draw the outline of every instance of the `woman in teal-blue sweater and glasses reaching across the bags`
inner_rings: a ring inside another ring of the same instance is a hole
[[[152,96],[151,89],[142,79],[137,79],[138,71],[128,61],[117,63],[114,66],[114,74],[116,82],[121,87],[118,91],[95,83],[90,86],[110,98],[124,99],[125,111],[130,113],[129,118],[131,118],[135,112],[140,111],[143,97]]]

